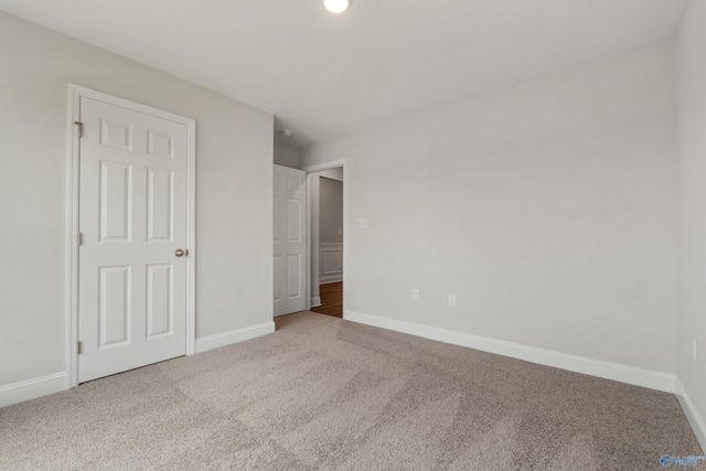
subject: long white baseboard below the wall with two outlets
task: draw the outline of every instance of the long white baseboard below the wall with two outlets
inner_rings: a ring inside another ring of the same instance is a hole
[[[363,314],[354,311],[345,311],[343,319],[453,345],[467,346],[470,349],[481,350],[483,352],[524,360],[526,362],[537,363],[541,365],[553,366],[555,368],[567,370],[575,373],[598,376],[606,379],[674,394],[675,376],[667,373],[642,370],[633,366],[621,365],[619,363],[610,363],[586,356],[537,349],[535,346],[382,318],[378,315]]]

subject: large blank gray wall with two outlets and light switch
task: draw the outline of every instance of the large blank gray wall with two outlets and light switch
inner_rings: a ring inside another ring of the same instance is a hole
[[[675,67],[662,42],[302,148],[349,159],[347,309],[674,373]]]

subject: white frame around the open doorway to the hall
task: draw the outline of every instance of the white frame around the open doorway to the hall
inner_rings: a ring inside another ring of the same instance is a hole
[[[345,296],[349,279],[349,229],[347,229],[347,212],[349,212],[349,172],[347,159],[333,160],[331,162],[317,163],[314,165],[302,167],[301,170],[307,172],[307,189],[311,186],[311,173],[322,170],[331,170],[343,168],[343,319],[346,318]],[[318,247],[311,247],[311,192],[307,191],[307,310],[311,309],[311,250],[318,250]]]

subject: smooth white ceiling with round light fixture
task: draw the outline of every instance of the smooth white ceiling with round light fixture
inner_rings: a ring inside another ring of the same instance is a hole
[[[0,0],[276,115],[293,146],[675,34],[686,0]],[[277,132],[276,132],[277,135]]]

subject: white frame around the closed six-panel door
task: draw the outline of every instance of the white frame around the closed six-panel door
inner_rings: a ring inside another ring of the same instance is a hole
[[[68,120],[66,149],[66,389],[78,385],[78,189],[81,98],[145,113],[186,126],[186,355],[195,353],[196,342],[196,121],[139,103],[118,98],[79,85],[68,84]]]

